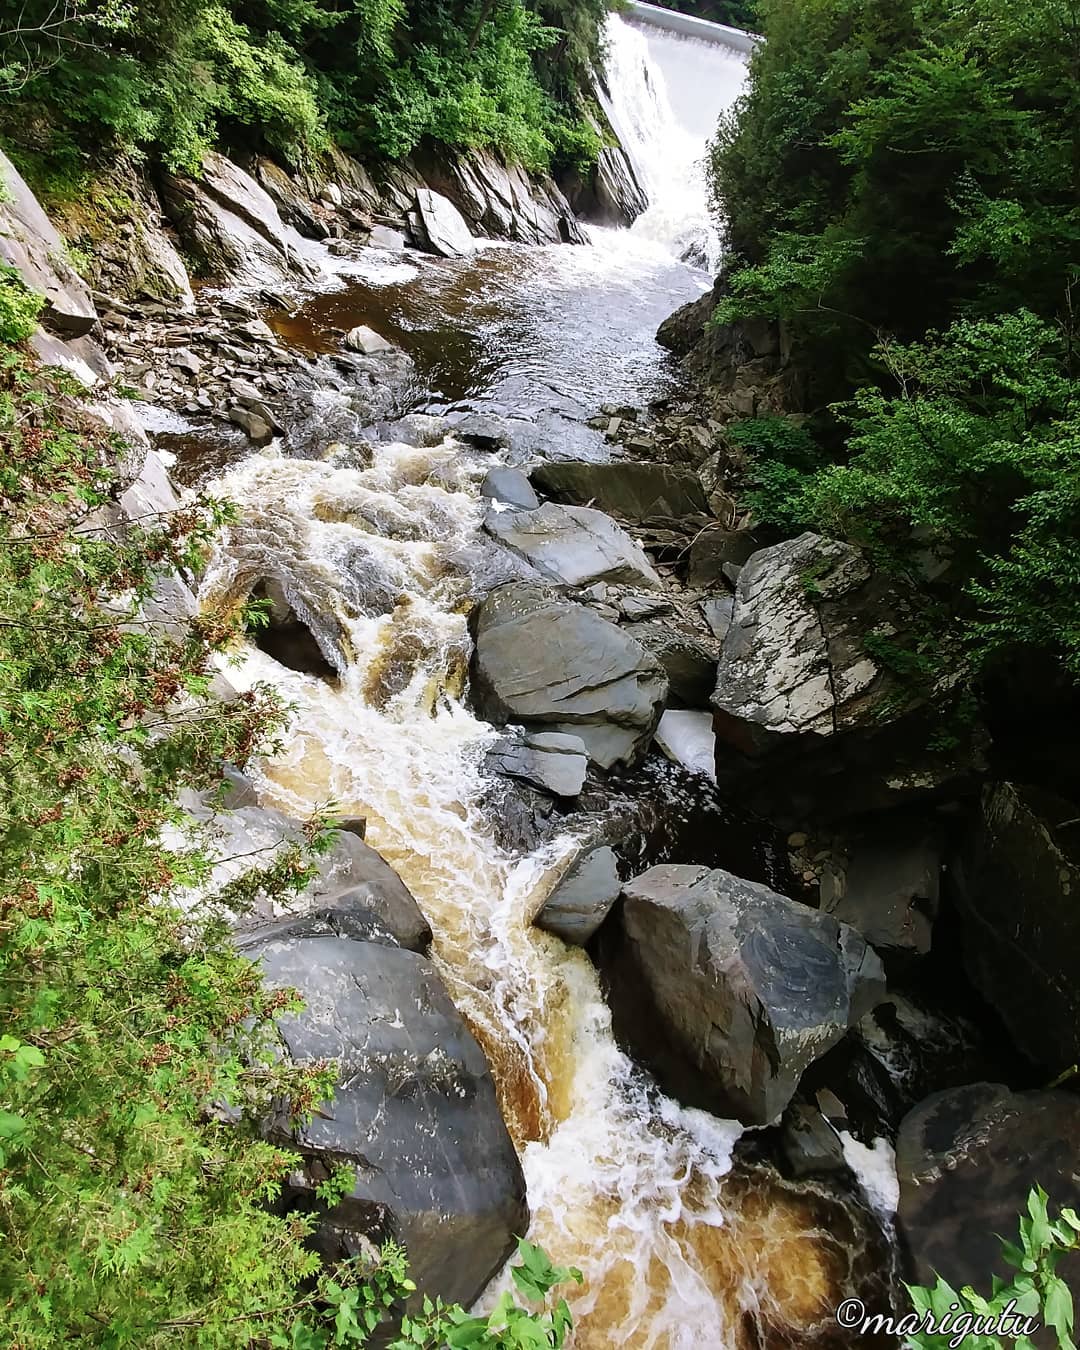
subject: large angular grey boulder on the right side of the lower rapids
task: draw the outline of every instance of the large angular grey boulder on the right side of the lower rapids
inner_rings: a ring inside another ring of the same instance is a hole
[[[602,964],[616,1030],[662,1087],[747,1125],[775,1120],[886,992],[880,960],[846,923],[683,864],[624,886]]]

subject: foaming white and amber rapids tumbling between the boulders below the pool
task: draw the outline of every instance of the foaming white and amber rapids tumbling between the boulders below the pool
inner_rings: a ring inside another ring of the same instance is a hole
[[[263,452],[215,487],[239,520],[204,598],[236,598],[285,566],[333,606],[350,657],[336,687],[254,648],[230,668],[296,709],[285,752],[261,771],[265,799],[297,817],[331,801],[364,815],[429,918],[521,1152],[531,1237],[586,1273],[575,1346],[809,1345],[799,1334],[850,1253],[813,1197],[729,1172],[740,1127],[660,1095],[617,1048],[585,953],[532,926],[570,842],[525,859],[494,842],[481,770],[494,733],[463,702],[470,599],[500,566],[479,529],[494,456],[451,437],[377,446],[366,467],[355,456]]]

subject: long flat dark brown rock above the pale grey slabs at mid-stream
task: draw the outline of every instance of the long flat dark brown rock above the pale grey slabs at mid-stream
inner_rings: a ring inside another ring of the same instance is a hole
[[[597,464],[566,459],[540,464],[532,471],[532,481],[541,493],[558,501],[593,505],[630,521],[709,510],[698,475],[671,464],[636,460]]]

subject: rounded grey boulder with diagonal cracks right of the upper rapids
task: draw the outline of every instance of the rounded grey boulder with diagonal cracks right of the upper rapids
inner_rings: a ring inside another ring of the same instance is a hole
[[[528,583],[498,586],[481,605],[473,679],[490,721],[579,736],[601,768],[644,755],[667,694],[625,632]]]

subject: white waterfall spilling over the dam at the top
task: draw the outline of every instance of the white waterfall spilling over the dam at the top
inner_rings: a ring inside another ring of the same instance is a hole
[[[705,161],[720,115],[738,97],[747,57],[618,15],[608,20],[601,101],[649,207],[633,224],[686,262],[717,270]]]

